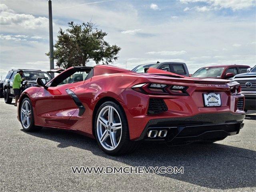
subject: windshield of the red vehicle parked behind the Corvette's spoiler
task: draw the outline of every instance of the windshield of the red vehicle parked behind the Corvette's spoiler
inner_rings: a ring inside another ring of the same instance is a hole
[[[224,67],[206,67],[197,70],[191,77],[220,77]]]

